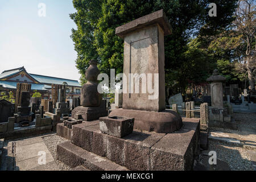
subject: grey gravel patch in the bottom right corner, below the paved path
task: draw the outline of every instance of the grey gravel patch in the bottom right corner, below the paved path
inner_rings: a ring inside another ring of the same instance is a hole
[[[225,142],[209,140],[209,148],[207,151],[203,151],[203,153],[208,154],[209,151],[216,151],[217,159],[228,163],[232,171],[254,171],[246,148]]]

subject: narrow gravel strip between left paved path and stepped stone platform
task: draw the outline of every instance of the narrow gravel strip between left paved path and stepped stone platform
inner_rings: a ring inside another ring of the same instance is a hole
[[[68,141],[65,138],[59,137],[58,135],[52,135],[49,137],[43,137],[44,143],[46,144],[49,152],[51,152],[53,159],[55,160],[57,166],[61,171],[68,171],[70,168],[64,164],[63,162],[60,162],[57,160],[57,144],[63,143]]]

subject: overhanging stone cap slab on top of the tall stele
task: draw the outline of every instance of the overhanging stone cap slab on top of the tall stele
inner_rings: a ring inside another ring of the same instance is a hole
[[[115,28],[115,34],[120,38],[124,38],[124,36],[131,31],[156,23],[158,23],[159,26],[163,28],[164,36],[172,34],[171,24],[163,10],[155,11],[154,13],[142,16],[141,18],[123,24],[122,26]]]

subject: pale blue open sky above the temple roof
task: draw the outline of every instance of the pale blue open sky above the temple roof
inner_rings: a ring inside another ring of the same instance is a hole
[[[38,15],[39,3],[46,17]],[[0,72],[24,66],[28,73],[79,80],[70,38],[75,11],[72,0],[0,0]]]

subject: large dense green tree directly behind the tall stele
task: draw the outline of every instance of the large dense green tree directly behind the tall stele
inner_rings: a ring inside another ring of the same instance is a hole
[[[208,16],[209,3],[216,3],[217,17]],[[177,92],[183,92],[191,75],[187,72],[191,64],[188,43],[197,35],[215,35],[226,30],[233,20],[236,9],[235,0],[73,0],[77,10],[71,19],[77,24],[71,38],[77,51],[76,65],[85,81],[84,73],[90,59],[99,61],[101,72],[109,73],[114,68],[116,73],[123,70],[123,40],[115,35],[115,28],[164,9],[173,28],[173,34],[166,36],[165,68],[167,85],[176,85]],[[197,54],[195,51],[193,52]],[[199,60],[199,59],[197,59]],[[193,63],[197,65],[197,62]],[[200,75],[200,74],[199,74]],[[175,79],[175,80],[173,80]]]

